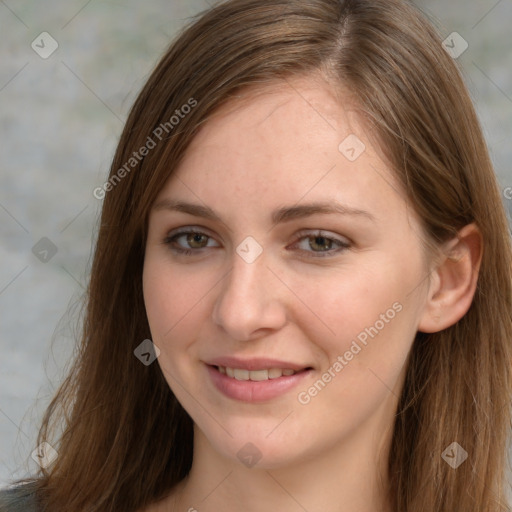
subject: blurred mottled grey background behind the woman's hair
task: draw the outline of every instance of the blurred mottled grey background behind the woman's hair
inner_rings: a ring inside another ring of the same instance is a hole
[[[162,52],[213,3],[0,1],[0,487],[35,470],[41,413],[73,350],[101,208],[92,191]],[[468,43],[457,60],[512,212],[512,0],[416,3]]]

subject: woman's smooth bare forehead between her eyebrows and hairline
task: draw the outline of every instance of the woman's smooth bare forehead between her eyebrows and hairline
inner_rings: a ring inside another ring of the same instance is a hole
[[[223,105],[159,197],[169,193],[220,211],[233,194],[245,199],[239,209],[274,209],[306,196],[364,209],[404,201],[354,103],[316,77],[247,89]]]

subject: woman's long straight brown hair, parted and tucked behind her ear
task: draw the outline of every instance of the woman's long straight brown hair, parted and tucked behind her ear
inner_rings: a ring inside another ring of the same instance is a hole
[[[170,46],[119,141],[103,189],[82,340],[39,436],[59,452],[36,480],[48,511],[136,511],[187,475],[192,420],[159,366],[133,354],[150,338],[142,294],[148,212],[221,105],[249,87],[317,72],[356,100],[430,243],[471,222],[484,241],[469,311],[414,340],[389,458],[394,508],[510,510],[510,233],[456,64],[431,23],[403,1],[228,0]],[[141,156],[148,137],[154,147]],[[441,456],[452,442],[468,453],[456,470]]]

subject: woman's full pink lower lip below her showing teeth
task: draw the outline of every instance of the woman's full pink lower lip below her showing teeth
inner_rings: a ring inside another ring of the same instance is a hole
[[[237,380],[217,370],[217,367],[206,365],[215,387],[224,395],[243,402],[264,402],[280,396],[297,386],[313,370],[303,370],[293,375],[283,375],[268,380]]]

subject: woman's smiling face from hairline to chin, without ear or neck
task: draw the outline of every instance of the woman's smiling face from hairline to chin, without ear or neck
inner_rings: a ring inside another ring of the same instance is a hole
[[[419,221],[349,104],[310,78],[268,92],[193,140],[151,211],[143,281],[197,439],[271,468],[381,446],[428,272]]]

